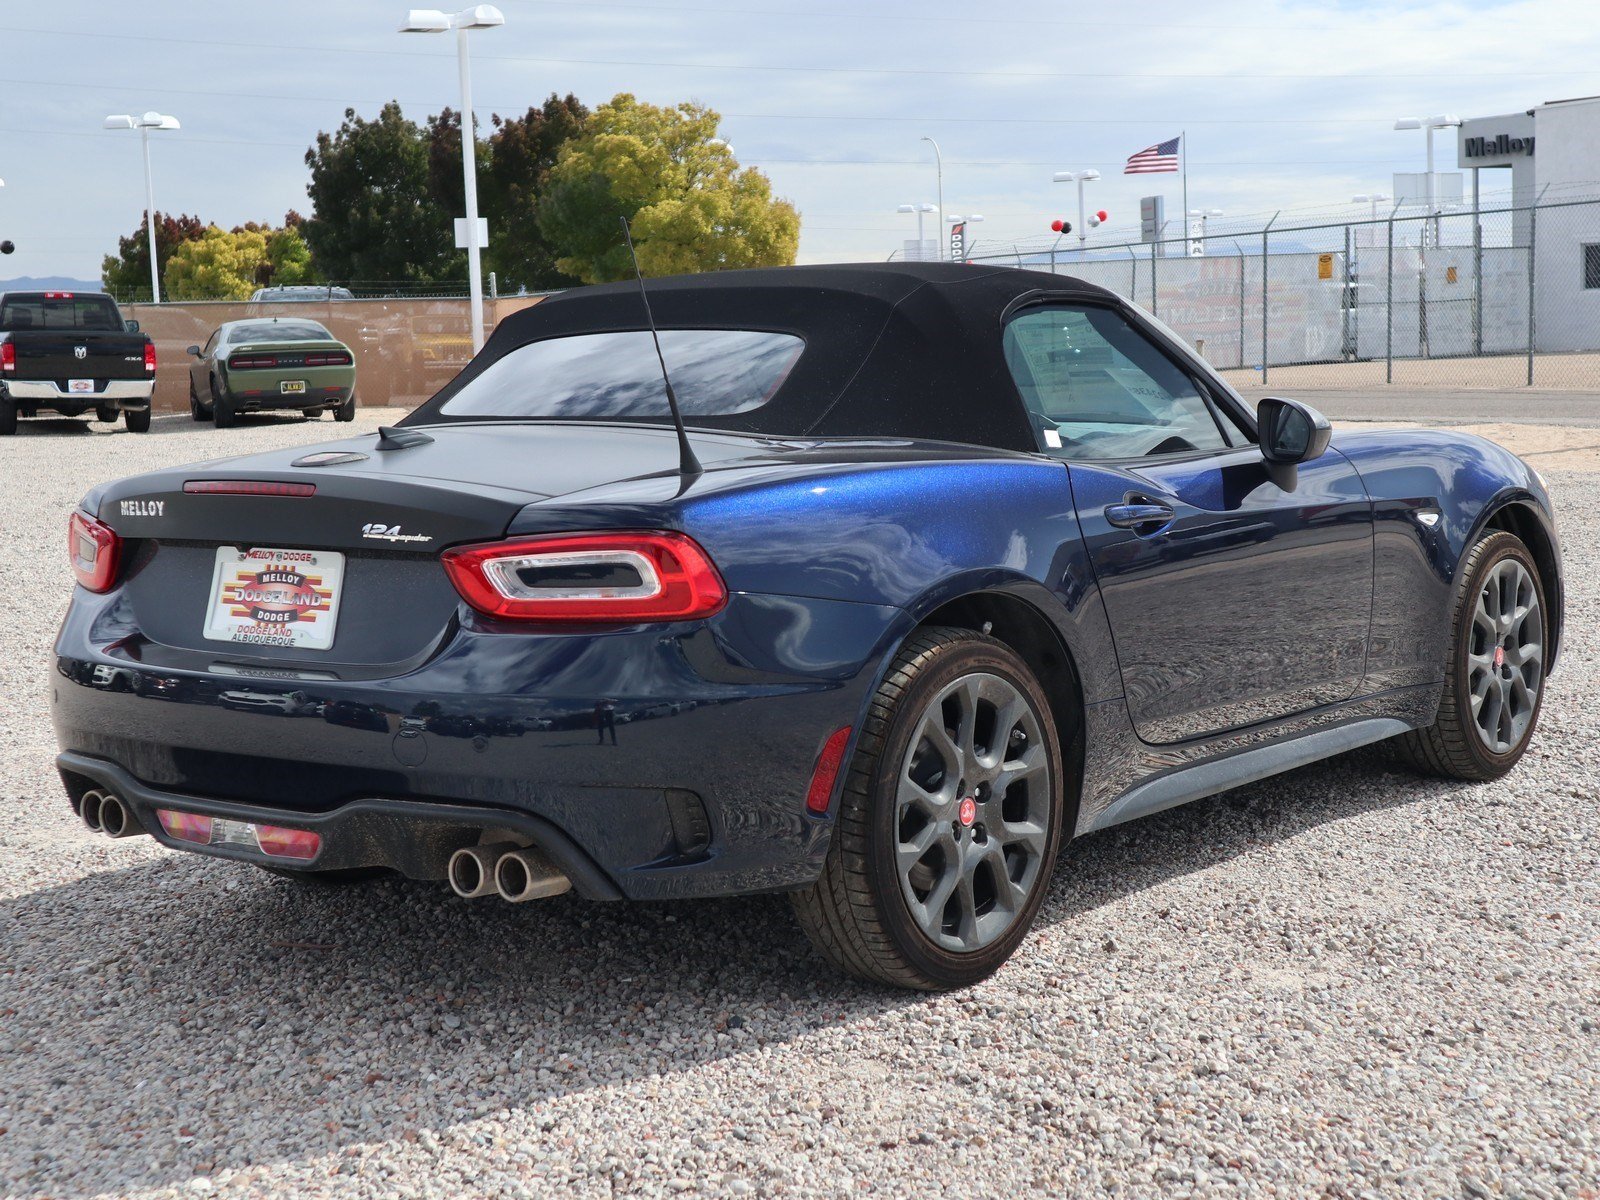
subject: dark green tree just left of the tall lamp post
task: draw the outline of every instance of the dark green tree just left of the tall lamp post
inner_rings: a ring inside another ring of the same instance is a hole
[[[317,270],[331,280],[438,283],[462,278],[451,213],[430,189],[429,139],[400,104],[376,120],[344,110],[338,133],[306,150],[312,214],[301,227]]]

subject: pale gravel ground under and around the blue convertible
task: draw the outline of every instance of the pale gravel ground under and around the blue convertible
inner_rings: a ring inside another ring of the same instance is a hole
[[[1600,1197],[1600,474],[1552,474],[1570,640],[1509,779],[1362,754],[1090,837],[1006,970],[914,997],[781,898],[322,891],[82,832],[70,506],[342,432],[0,443],[0,1194]]]

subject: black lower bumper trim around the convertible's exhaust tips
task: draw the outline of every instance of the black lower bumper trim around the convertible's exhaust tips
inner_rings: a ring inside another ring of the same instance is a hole
[[[573,882],[579,896],[597,901],[622,899],[616,885],[566,834],[549,821],[528,813],[371,798],[352,800],[331,813],[307,814],[285,808],[165,792],[141,784],[115,763],[82,754],[61,754],[56,757],[56,766],[74,806],[85,790],[82,781],[88,781],[99,790],[117,795],[146,834],[173,850],[296,870],[390,867],[410,878],[442,880],[454,851],[480,842],[498,840],[496,834],[512,834],[542,850]],[[288,861],[232,845],[208,846],[182,842],[170,837],[162,827],[157,816],[160,808],[230,821],[309,829],[322,837],[322,845],[314,859]]]

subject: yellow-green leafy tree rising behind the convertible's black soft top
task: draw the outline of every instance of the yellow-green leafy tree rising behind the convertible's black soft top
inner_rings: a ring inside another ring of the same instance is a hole
[[[771,181],[739,168],[717,139],[720,117],[699,104],[661,109],[621,93],[568,141],[538,210],[562,254],[557,267],[587,283],[632,274],[618,218],[629,218],[646,275],[794,262],[800,214]]]

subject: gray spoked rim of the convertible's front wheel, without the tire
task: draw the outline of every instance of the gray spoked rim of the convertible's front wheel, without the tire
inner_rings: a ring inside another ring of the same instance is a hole
[[[1472,728],[1493,754],[1528,733],[1544,685],[1539,584],[1515,558],[1501,558],[1478,589],[1467,648]]]

